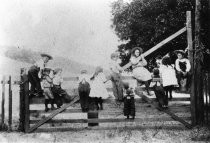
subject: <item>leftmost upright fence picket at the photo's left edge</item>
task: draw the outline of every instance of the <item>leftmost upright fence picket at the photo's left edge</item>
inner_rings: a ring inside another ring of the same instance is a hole
[[[1,100],[1,124],[2,124],[2,126],[4,125],[4,117],[5,117],[4,104],[5,104],[5,76],[3,76],[3,82],[2,82],[2,100]]]

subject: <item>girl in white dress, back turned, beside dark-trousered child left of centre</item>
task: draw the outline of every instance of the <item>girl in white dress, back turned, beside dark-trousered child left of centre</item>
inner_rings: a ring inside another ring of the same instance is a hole
[[[97,109],[103,110],[103,99],[108,98],[109,94],[105,86],[107,79],[101,67],[96,67],[95,73],[91,77],[91,81],[90,98],[94,98],[93,102],[95,102]]]

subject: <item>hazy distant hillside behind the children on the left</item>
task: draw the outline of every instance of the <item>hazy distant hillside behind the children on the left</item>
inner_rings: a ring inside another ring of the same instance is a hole
[[[23,67],[25,66],[25,64],[31,65],[40,57],[39,52],[35,52],[30,49],[28,50],[28,49],[20,49],[18,47],[2,47],[2,46],[0,48],[3,49],[2,50],[3,53],[1,52],[1,56],[6,57],[3,60],[4,65],[5,64],[11,65],[8,69],[13,67],[13,65],[15,65],[15,68]],[[49,62],[48,66],[52,68],[57,68],[57,67],[62,68],[64,75],[77,75],[80,73],[82,69],[86,69],[89,73],[93,73],[95,69],[94,66],[81,64],[79,62],[63,57],[54,57],[54,59]]]

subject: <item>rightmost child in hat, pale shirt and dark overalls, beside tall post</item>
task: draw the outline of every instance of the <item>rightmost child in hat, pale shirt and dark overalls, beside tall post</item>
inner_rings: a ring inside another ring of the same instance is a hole
[[[189,89],[191,65],[190,65],[190,61],[184,56],[185,56],[185,52],[183,50],[177,51],[178,59],[176,59],[175,68],[177,72],[177,80],[178,80],[179,87],[181,87],[181,80],[187,79],[186,88]]]

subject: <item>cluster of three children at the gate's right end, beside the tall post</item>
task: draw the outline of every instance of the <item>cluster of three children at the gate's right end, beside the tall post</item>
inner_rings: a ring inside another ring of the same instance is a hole
[[[172,63],[169,56],[157,58],[157,68],[153,71],[155,78],[161,77],[161,82],[156,82],[154,92],[159,102],[159,106],[168,107],[168,97],[172,99],[172,90],[175,87],[182,88],[181,80],[187,80],[187,88],[190,89],[190,62],[184,58],[185,52],[182,50],[176,51],[177,59],[175,65]]]

